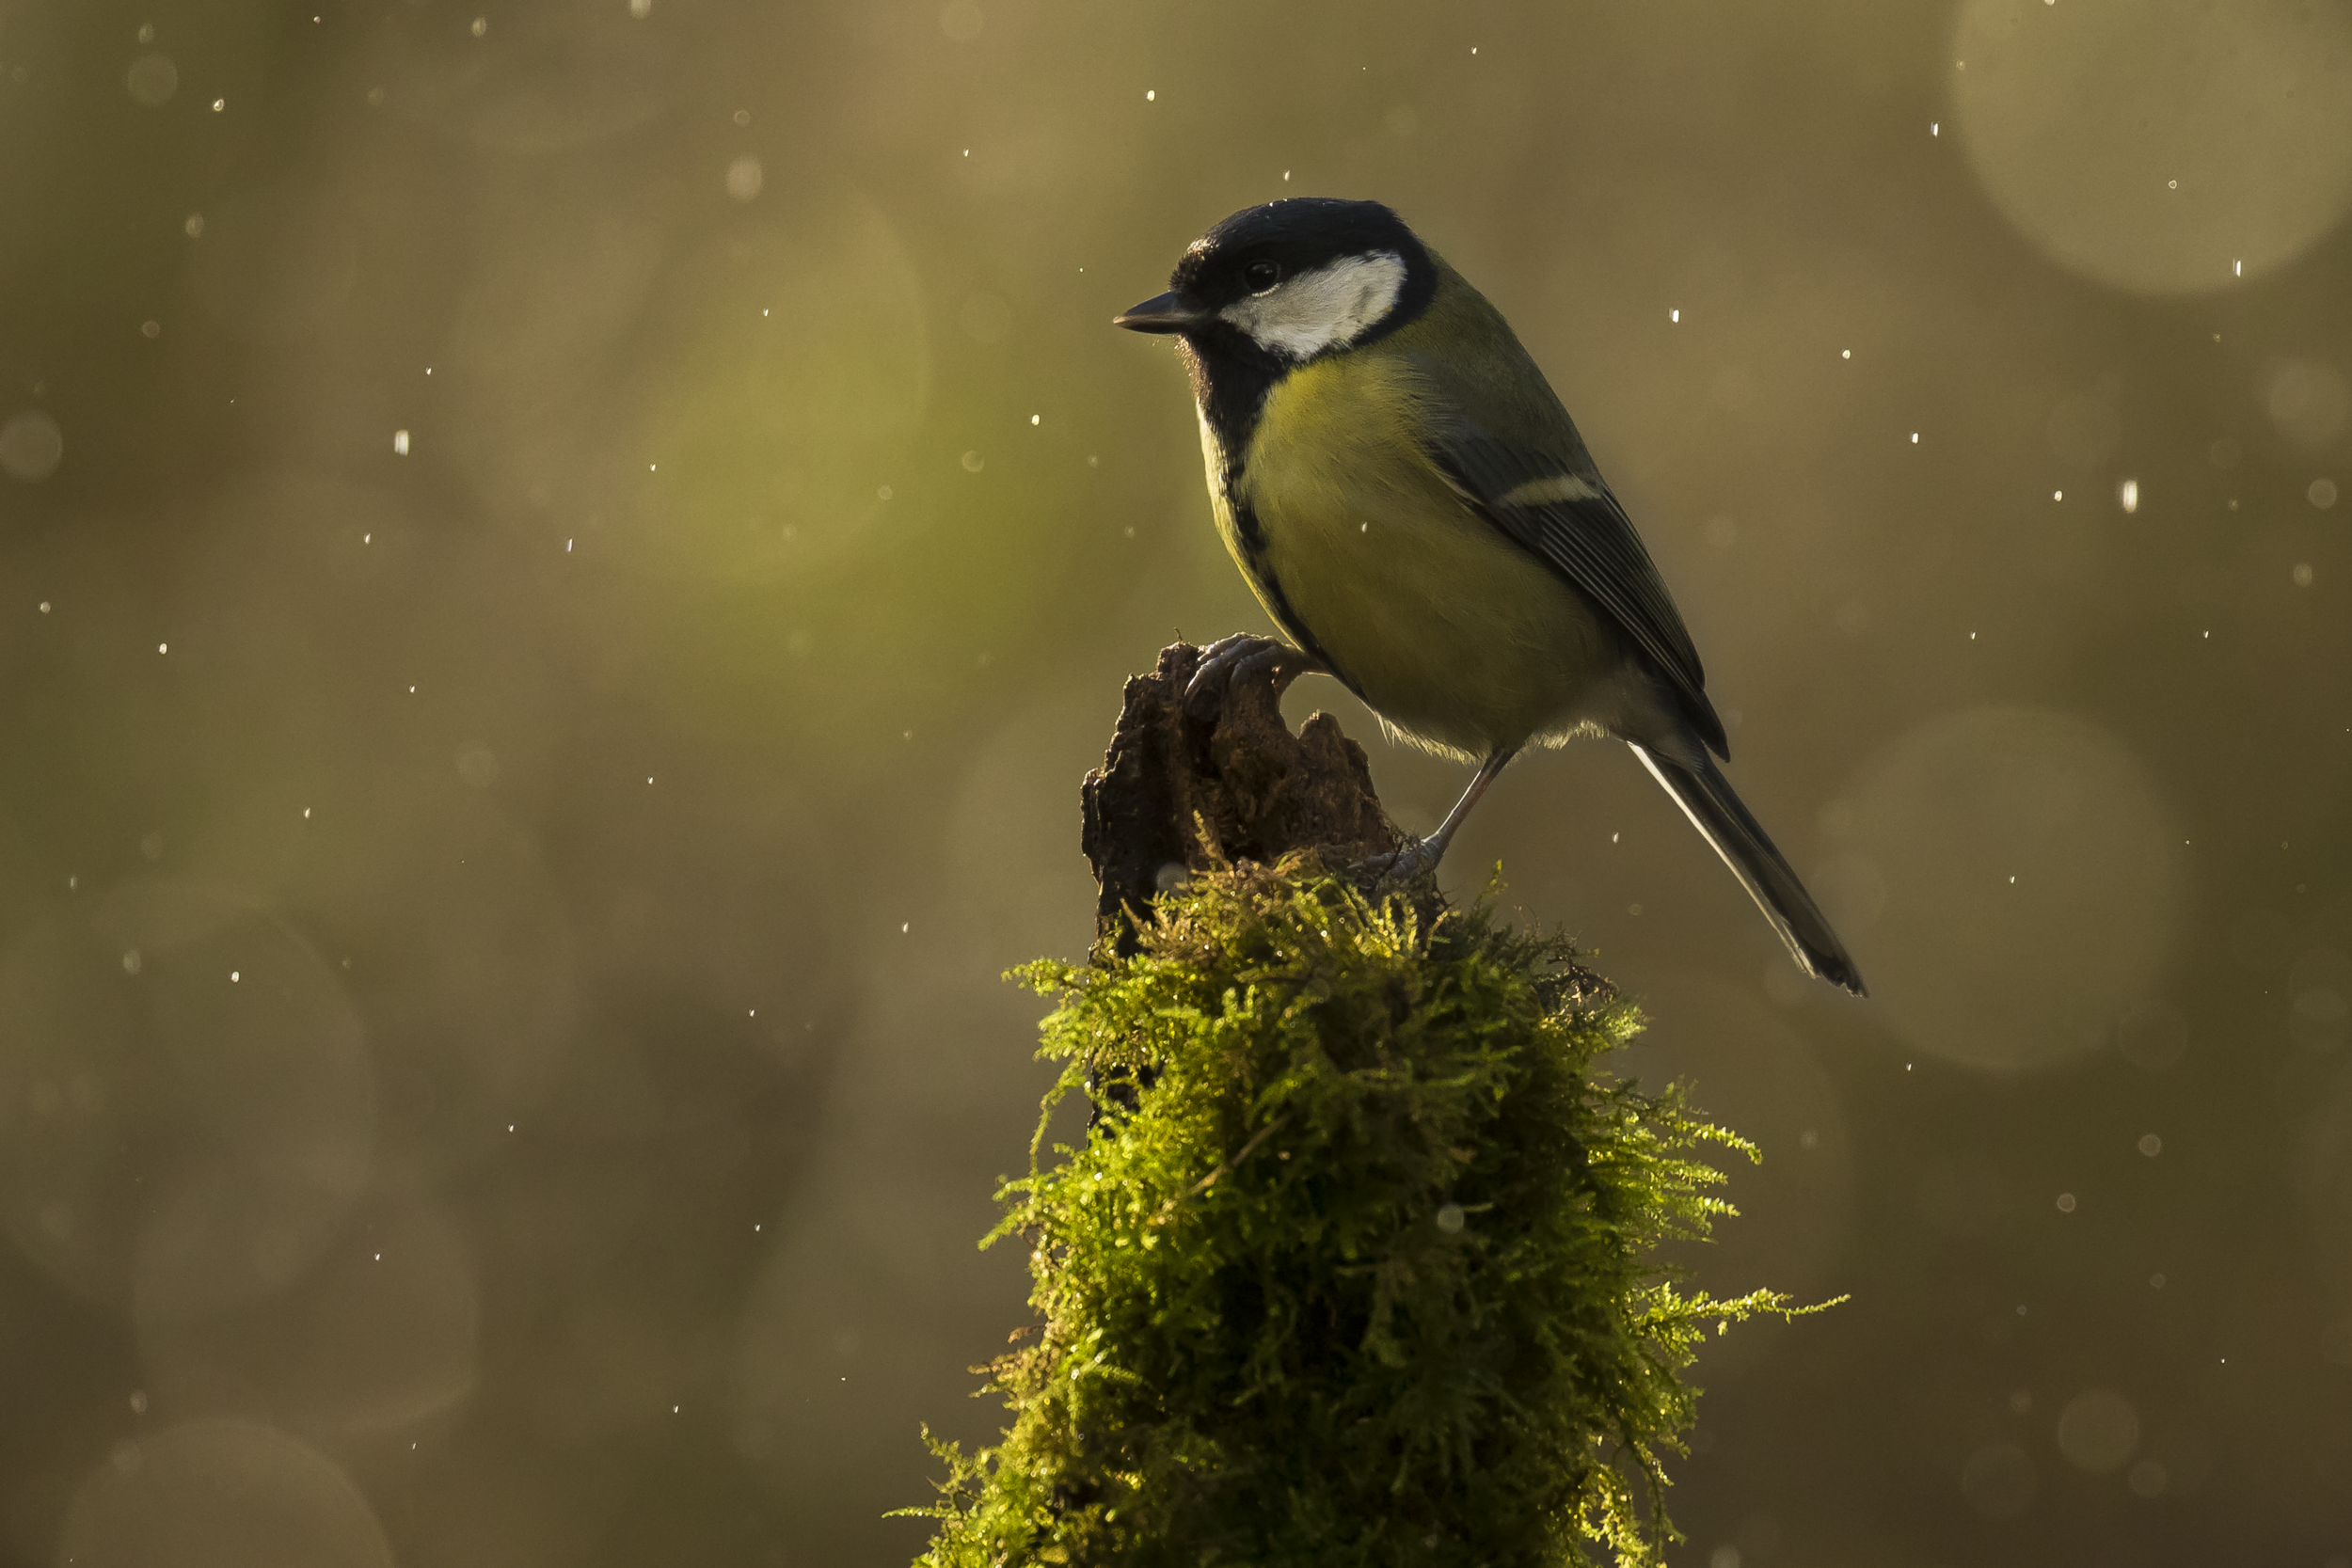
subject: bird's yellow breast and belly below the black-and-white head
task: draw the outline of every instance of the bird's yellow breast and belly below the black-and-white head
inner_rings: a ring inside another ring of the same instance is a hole
[[[1463,503],[1416,430],[1404,353],[1336,355],[1275,383],[1232,494],[1216,494],[1218,529],[1258,599],[1432,750],[1479,757],[1606,719],[1618,639],[1590,599]],[[1218,491],[1228,463],[1207,425],[1202,437]]]

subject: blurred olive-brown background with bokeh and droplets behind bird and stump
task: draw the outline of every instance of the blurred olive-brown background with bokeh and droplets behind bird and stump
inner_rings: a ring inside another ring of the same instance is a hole
[[[1675,1561],[2352,1568],[2343,0],[7,0],[0,1561],[920,1547],[997,976],[1263,628],[1108,320],[1284,193],[1517,324],[1877,992],[1623,748],[1449,860],[1853,1295]]]

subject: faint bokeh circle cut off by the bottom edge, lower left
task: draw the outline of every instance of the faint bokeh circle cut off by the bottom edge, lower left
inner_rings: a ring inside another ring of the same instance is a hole
[[[393,1568],[367,1497],[273,1427],[195,1420],[125,1443],[82,1483],[56,1552],[73,1568]]]

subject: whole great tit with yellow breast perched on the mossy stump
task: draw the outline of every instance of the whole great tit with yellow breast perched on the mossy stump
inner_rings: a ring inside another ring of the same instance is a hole
[[[1715,766],[1698,649],[1543,371],[1503,315],[1378,202],[1247,207],[1115,324],[1174,334],[1225,548],[1289,637],[1242,670],[1336,677],[1392,738],[1477,762],[1395,875],[1437,865],[1526,745],[1616,736],[1813,976],[1863,994],[1797,872]],[[1712,752],[1712,755],[1710,755]]]

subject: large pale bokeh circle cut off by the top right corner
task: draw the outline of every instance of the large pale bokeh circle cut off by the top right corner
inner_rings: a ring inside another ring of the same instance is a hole
[[[1966,0],[1952,120],[2058,266],[2133,294],[2291,263],[2352,207],[2352,16],[2298,0]]]

